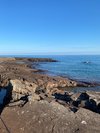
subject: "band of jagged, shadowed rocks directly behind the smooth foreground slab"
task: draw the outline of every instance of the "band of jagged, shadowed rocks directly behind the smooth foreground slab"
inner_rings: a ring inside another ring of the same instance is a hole
[[[24,105],[28,101],[46,100],[69,106],[73,112],[77,112],[79,108],[86,108],[100,113],[99,92],[69,93],[59,89],[57,85],[51,83],[51,86],[48,87],[47,83],[45,88],[40,88],[37,84],[28,81],[10,80],[8,92],[11,91],[11,100],[9,105],[14,106],[14,103],[15,105]]]

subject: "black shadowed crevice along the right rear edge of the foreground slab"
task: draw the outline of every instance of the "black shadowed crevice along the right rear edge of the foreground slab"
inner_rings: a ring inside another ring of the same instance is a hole
[[[58,102],[59,100],[66,102],[66,104],[69,105],[71,111],[74,113],[77,112],[79,108],[85,108],[93,112],[100,113],[100,103],[97,104],[96,101],[91,99],[90,96],[85,92],[81,93],[79,97],[77,97],[77,100],[73,100],[67,93],[55,93],[53,96],[55,96],[55,99],[58,100]]]

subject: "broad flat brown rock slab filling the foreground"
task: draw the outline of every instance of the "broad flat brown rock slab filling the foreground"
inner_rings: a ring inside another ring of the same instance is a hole
[[[100,115],[80,108],[73,113],[56,102],[36,101],[6,107],[1,118],[11,133],[100,133]],[[0,120],[0,133],[7,130]]]

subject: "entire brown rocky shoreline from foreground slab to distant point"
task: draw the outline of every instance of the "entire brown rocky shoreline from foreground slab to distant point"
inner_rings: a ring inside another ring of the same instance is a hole
[[[67,91],[68,87],[90,87],[98,83],[42,74],[36,62],[56,60],[0,58],[0,88],[7,91],[0,105],[0,132],[99,133],[100,92]]]

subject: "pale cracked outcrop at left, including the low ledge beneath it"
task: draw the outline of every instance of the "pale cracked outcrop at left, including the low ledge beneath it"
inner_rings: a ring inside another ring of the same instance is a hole
[[[14,106],[14,103],[15,105],[18,105],[18,104],[20,105],[20,104],[24,104],[27,101],[40,100],[39,95],[35,93],[37,88],[38,88],[38,85],[36,85],[35,83],[30,83],[27,81],[21,81],[17,79],[10,80],[7,91],[9,92],[11,90],[12,98],[9,105]]]

